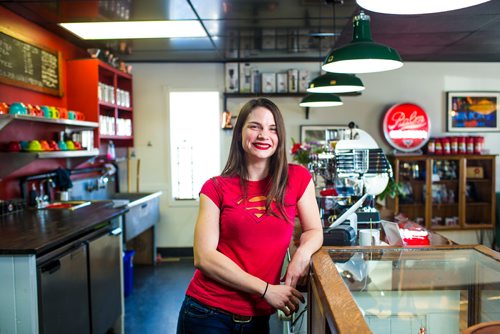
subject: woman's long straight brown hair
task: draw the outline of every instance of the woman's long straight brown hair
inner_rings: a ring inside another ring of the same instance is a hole
[[[275,201],[279,213],[287,221],[290,218],[285,212],[285,189],[288,183],[288,161],[286,157],[286,130],[285,121],[279,108],[269,99],[258,98],[248,101],[240,110],[236,125],[233,129],[233,137],[231,139],[231,147],[226,166],[222,171],[222,176],[239,176],[240,183],[243,188],[244,196],[247,195],[247,180],[248,170],[246,164],[245,151],[241,143],[243,126],[248,118],[248,115],[258,107],[268,109],[274,117],[276,123],[276,133],[278,135],[278,147],[276,152],[271,156],[269,162],[269,184],[267,190],[266,212],[275,214],[270,211],[271,203]]]

